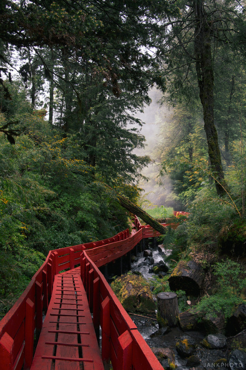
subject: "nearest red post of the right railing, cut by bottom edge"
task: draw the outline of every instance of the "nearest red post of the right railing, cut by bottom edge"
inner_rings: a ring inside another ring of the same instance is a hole
[[[132,337],[126,330],[118,338],[120,346],[118,350],[119,370],[128,370],[132,368]]]

